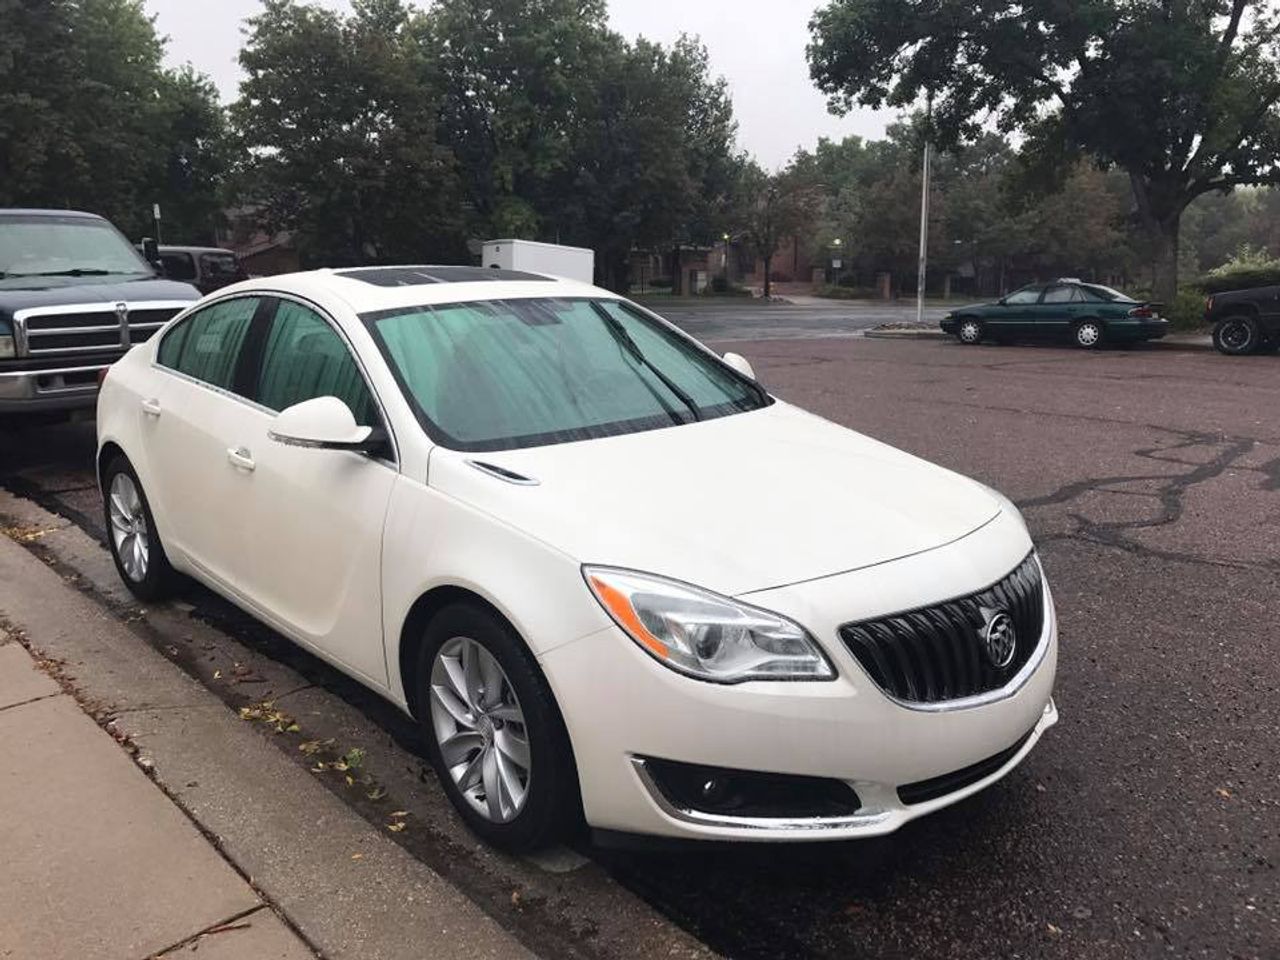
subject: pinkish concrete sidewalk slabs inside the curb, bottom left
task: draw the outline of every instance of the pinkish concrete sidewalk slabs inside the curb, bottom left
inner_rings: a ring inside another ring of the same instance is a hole
[[[0,632],[0,957],[316,956]]]

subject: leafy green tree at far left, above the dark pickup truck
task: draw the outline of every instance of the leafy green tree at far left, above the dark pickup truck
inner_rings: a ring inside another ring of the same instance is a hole
[[[0,206],[78,207],[138,236],[211,232],[221,115],[189,70],[161,68],[141,0],[0,0]]]

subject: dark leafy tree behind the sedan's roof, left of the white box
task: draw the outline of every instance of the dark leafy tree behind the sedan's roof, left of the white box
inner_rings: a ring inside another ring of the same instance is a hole
[[[268,230],[293,232],[303,261],[466,256],[426,32],[401,0],[356,0],[347,17],[266,0],[250,20],[230,110],[237,195]]]

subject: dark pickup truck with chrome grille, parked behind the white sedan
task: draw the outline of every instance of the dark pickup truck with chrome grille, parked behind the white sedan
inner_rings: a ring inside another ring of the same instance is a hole
[[[0,210],[0,415],[91,408],[100,371],[198,298],[101,216]]]

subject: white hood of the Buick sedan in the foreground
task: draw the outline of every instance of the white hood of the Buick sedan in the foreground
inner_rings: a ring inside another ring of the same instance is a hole
[[[929,550],[1001,511],[973,480],[781,402],[550,447],[436,448],[429,483],[580,562],[730,595]]]

